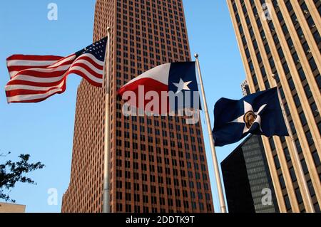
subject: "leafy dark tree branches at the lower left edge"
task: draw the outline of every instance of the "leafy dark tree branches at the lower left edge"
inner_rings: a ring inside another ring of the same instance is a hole
[[[0,157],[4,157],[4,155],[0,155]],[[43,169],[44,164],[41,164],[41,162],[30,164],[29,159],[29,154],[20,154],[19,162],[7,161],[4,164],[0,164],[0,199],[14,203],[15,201],[10,198],[9,192],[14,188],[16,183],[36,184],[26,174],[36,169]],[[4,191],[8,191],[8,193]]]

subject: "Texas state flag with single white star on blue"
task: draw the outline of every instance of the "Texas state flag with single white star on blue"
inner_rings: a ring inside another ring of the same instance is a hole
[[[158,65],[123,85],[117,94],[154,115],[201,109],[195,62]]]

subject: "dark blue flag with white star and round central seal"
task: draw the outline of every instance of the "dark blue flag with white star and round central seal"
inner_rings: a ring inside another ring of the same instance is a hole
[[[214,117],[213,137],[217,147],[238,142],[250,133],[288,136],[277,88],[241,100],[221,98],[215,104]]]

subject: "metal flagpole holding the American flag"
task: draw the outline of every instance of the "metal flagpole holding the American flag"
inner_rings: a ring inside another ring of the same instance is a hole
[[[106,80],[105,95],[105,128],[104,128],[104,147],[103,147],[103,213],[111,213],[111,117],[110,117],[110,40],[111,28],[107,28],[107,44],[106,44],[106,63],[104,64],[103,78]]]

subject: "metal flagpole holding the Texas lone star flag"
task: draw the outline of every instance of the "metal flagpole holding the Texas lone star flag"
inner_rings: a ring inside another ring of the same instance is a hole
[[[220,212],[226,213],[223,187],[222,187],[222,182],[220,180],[220,169],[218,168],[218,157],[216,156],[216,151],[215,151],[214,138],[213,138],[212,128],[210,125],[210,115],[208,113],[208,103],[206,102],[202,73],[200,72],[200,61],[198,60],[198,53],[195,53],[195,58],[196,58],[196,65],[198,67],[198,79],[200,80],[200,91],[202,93],[202,98],[203,98],[205,120],[206,120],[206,125],[208,127],[208,137],[210,138],[210,150],[212,152],[215,180],[216,180],[216,185],[218,187],[218,199],[220,201]]]

